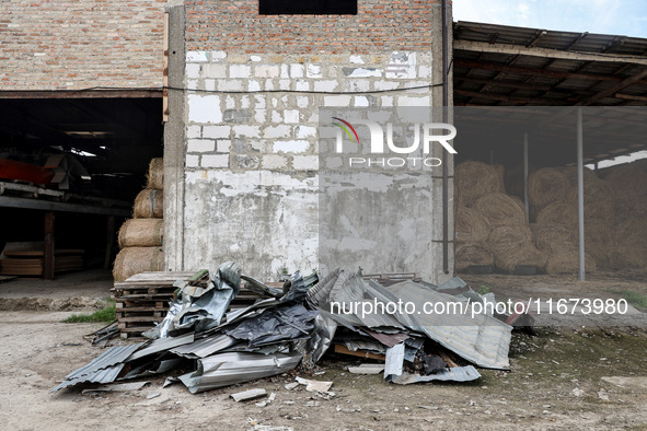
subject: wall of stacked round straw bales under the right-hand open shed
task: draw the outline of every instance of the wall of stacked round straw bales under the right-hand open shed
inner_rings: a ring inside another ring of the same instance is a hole
[[[584,170],[586,270],[646,268],[647,172],[625,164],[603,174]],[[577,168],[530,173],[530,229],[520,200],[501,193],[499,178],[500,170],[483,163],[457,166],[457,269],[494,259],[505,271],[543,266],[548,273],[577,272]],[[522,184],[518,172],[506,173],[507,188],[515,178]],[[472,234],[484,229],[486,238]]]

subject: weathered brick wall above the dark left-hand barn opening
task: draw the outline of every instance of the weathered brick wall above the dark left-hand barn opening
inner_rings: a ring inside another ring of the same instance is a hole
[[[165,0],[1,0],[0,89],[162,84]]]

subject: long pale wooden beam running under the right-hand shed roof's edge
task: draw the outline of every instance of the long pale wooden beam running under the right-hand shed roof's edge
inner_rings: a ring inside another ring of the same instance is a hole
[[[588,53],[564,51],[557,49],[527,47],[522,45],[512,44],[488,44],[486,42],[476,40],[454,40],[454,49],[461,49],[473,53],[494,53],[494,54],[509,54],[544,58],[558,58],[563,60],[576,61],[608,61],[608,62],[628,62],[633,65],[647,66],[647,58],[636,56],[617,56]]]

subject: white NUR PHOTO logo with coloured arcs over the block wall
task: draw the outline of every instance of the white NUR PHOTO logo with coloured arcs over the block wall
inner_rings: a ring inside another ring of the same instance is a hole
[[[457,128],[447,123],[425,123],[419,124],[416,123],[413,126],[413,141],[404,142],[405,145],[396,145],[393,141],[393,124],[386,123],[386,132],[384,133],[384,129],[382,126],[372,120],[368,119],[356,119],[350,124],[349,121],[339,118],[333,117],[334,120],[333,125],[337,126],[337,141],[335,145],[335,152],[337,154],[344,153],[344,141],[348,140],[350,142],[355,142],[358,145],[359,151],[361,151],[362,145],[366,145],[365,141],[360,141],[359,135],[355,126],[366,126],[370,133],[370,143],[368,147],[368,152],[370,154],[388,154],[388,153],[395,153],[395,154],[408,154],[409,156],[393,156],[393,158],[365,158],[365,156],[351,156],[348,159],[348,165],[353,166],[361,166],[361,167],[371,167],[371,166],[381,166],[381,167],[402,167],[408,165],[411,167],[419,167],[419,166],[427,166],[427,167],[435,167],[440,166],[442,161],[438,158],[428,158],[427,155],[431,152],[431,144],[434,142],[440,143],[447,152],[450,154],[457,154],[457,150],[449,143],[452,139],[457,136]],[[355,126],[354,126],[355,125]],[[437,135],[439,132],[439,135]],[[421,139],[420,139],[421,135]],[[384,139],[384,137],[386,139]],[[408,141],[405,137],[405,141]],[[386,150],[384,148],[384,141],[386,141]],[[420,150],[420,141],[421,141],[421,150],[423,156],[413,156],[415,153],[419,153]],[[365,148],[365,153],[366,148]]]

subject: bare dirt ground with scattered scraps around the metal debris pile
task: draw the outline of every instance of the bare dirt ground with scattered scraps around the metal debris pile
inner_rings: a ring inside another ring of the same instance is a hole
[[[552,289],[555,298],[561,290],[565,298],[598,290],[647,293],[644,278],[600,276],[579,283],[542,277],[463,278],[487,284],[497,296],[538,288]],[[74,387],[51,394],[68,373],[101,353],[82,338],[101,325],[60,323],[70,314],[0,312],[1,429],[647,429],[647,329],[640,326],[541,326],[535,337],[515,334],[511,371],[480,369],[482,378],[467,384],[388,384],[381,375],[350,374],[346,368],[359,360],[327,356],[316,375],[297,374],[334,382],[332,399],[303,386],[285,388],[293,373],[198,395],[182,384],[162,388],[163,377],[130,393],[88,396]],[[274,401],[258,407],[258,400],[229,397],[257,387],[275,393]]]

